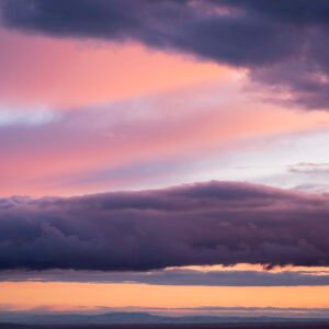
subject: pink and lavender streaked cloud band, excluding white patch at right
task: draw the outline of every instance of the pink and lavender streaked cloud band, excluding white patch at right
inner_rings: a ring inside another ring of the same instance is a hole
[[[174,172],[189,171],[197,159],[239,150],[253,138],[315,129],[326,115],[242,97],[223,100],[209,86],[67,111],[45,124],[0,127],[0,193],[70,195],[145,186],[146,180],[175,183]]]

